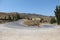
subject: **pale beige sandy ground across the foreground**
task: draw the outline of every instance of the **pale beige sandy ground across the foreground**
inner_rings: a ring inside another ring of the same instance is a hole
[[[0,24],[0,40],[60,40],[59,26],[34,28],[15,26],[14,23],[9,25]]]

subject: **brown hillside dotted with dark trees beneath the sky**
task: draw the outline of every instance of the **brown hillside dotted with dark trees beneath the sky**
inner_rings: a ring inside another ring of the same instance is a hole
[[[53,17],[54,16],[44,16],[30,13],[0,12],[0,23],[6,21],[15,21],[18,19],[31,19],[31,18],[41,18],[44,22],[50,22],[51,18]]]

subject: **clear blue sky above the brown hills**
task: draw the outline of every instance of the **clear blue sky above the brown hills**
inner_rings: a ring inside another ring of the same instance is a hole
[[[60,0],[0,0],[0,12],[36,13],[54,15]]]

